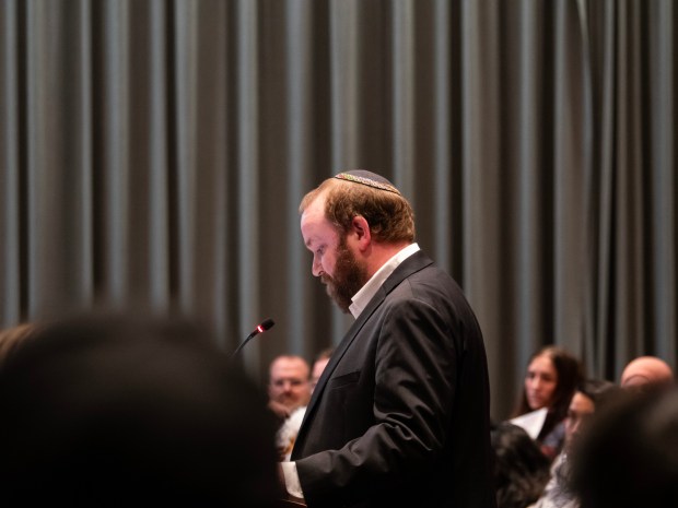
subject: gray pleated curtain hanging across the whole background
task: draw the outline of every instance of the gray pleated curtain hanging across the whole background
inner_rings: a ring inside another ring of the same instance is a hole
[[[486,335],[493,415],[557,343],[676,366],[673,0],[2,0],[0,326],[196,315],[265,376],[350,323],[297,205],[366,168]]]

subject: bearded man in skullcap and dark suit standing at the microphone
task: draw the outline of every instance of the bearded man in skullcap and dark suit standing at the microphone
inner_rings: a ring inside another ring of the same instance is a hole
[[[482,335],[461,290],[414,243],[409,202],[351,170],[300,212],[313,275],[355,322],[281,463],[287,493],[309,507],[495,507]]]

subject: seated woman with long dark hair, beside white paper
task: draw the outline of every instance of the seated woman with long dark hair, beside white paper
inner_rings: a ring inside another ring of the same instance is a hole
[[[541,348],[531,356],[527,366],[524,387],[512,417],[543,413],[543,423],[533,437],[550,460],[562,449],[563,421],[572,394],[582,378],[581,362],[557,346]],[[513,423],[517,424],[518,421]]]

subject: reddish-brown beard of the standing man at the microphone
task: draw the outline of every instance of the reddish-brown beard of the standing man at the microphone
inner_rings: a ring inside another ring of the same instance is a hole
[[[323,274],[320,281],[327,286],[327,294],[337,306],[343,312],[348,312],[352,303],[351,298],[367,282],[367,270],[348,248],[346,236],[341,238],[337,247],[335,275]]]

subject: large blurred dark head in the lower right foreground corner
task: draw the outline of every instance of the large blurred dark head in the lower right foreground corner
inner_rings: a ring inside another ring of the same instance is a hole
[[[678,392],[627,393],[576,442],[573,488],[581,508],[678,506]]]

